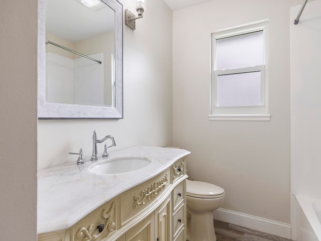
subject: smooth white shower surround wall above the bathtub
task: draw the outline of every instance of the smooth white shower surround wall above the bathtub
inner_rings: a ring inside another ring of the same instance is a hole
[[[300,6],[291,8],[292,19]],[[291,194],[321,199],[321,1],[291,25]]]

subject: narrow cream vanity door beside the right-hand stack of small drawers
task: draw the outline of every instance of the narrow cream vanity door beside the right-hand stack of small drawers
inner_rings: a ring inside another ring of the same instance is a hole
[[[166,200],[155,211],[155,233],[157,241],[170,241],[171,232],[171,198],[167,197]]]

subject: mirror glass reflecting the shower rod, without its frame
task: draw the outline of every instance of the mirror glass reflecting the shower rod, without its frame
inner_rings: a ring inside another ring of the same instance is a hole
[[[46,102],[115,106],[115,11],[46,0]]]

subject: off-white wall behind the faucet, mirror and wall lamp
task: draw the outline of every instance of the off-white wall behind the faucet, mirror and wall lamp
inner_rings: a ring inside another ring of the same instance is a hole
[[[134,1],[120,1],[135,12]],[[39,120],[38,169],[75,162],[68,152],[92,152],[92,133],[112,135],[117,146],[172,145],[172,11],[163,0],[148,2],[136,30],[123,29],[124,118]],[[98,144],[103,152],[103,144]]]

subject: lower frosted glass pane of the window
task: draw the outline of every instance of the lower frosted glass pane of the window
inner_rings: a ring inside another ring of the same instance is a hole
[[[261,105],[261,72],[219,75],[218,106]]]

